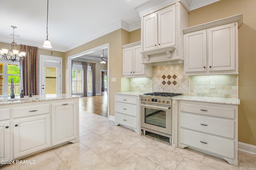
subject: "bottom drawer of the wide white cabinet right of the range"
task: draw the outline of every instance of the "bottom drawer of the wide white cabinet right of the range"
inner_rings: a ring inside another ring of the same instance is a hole
[[[180,143],[234,159],[235,141],[180,129]]]

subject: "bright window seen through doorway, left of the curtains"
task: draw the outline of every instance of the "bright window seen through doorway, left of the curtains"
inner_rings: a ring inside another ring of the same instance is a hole
[[[72,67],[72,92],[82,93],[82,65],[73,64]]]

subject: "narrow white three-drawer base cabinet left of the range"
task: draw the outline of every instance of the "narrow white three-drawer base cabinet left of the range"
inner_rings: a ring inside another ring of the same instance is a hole
[[[115,94],[115,124],[124,125],[139,133],[138,97]]]

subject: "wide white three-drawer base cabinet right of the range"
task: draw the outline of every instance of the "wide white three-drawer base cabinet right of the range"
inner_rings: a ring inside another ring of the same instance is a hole
[[[238,166],[238,106],[179,102],[179,147],[222,157]]]

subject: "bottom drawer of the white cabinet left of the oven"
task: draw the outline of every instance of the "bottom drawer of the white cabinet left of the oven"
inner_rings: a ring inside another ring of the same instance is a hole
[[[137,117],[123,115],[122,113],[115,112],[115,122],[137,128]]]

